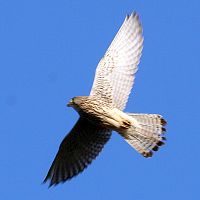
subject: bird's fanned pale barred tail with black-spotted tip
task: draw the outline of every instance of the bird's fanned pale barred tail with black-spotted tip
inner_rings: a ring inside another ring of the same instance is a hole
[[[127,113],[138,122],[120,133],[124,139],[144,157],[151,157],[153,151],[158,151],[164,145],[166,138],[163,133],[166,121],[157,114]]]

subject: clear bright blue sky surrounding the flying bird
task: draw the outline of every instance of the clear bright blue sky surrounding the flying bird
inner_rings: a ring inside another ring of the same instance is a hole
[[[198,0],[0,1],[0,199],[200,199]],[[160,113],[167,145],[145,159],[113,133],[78,177],[41,184],[127,13],[144,49],[126,110]]]

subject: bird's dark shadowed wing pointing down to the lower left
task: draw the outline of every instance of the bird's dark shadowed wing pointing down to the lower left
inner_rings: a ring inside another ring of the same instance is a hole
[[[110,130],[79,118],[62,141],[44,182],[50,180],[50,186],[56,185],[82,172],[97,157],[110,136]]]

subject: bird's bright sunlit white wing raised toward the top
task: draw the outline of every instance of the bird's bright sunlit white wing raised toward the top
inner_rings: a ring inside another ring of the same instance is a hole
[[[123,110],[131,92],[143,47],[142,27],[136,13],[126,16],[99,62],[90,95]]]

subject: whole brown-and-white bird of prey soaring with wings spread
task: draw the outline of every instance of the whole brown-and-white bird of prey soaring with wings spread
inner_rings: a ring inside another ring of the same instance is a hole
[[[57,185],[82,172],[101,152],[113,130],[146,158],[164,144],[166,121],[161,115],[123,112],[142,48],[142,26],[134,12],[126,16],[100,60],[90,95],[74,97],[68,103],[80,117],[60,144],[44,182]]]

